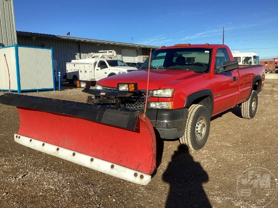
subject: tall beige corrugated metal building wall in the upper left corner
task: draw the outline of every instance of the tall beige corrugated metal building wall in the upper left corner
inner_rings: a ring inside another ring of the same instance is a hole
[[[17,43],[14,4],[11,0],[0,0],[0,46]]]

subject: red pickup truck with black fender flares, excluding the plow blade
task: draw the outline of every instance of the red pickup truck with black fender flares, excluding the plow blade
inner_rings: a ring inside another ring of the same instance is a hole
[[[239,68],[223,44],[176,44],[156,49],[140,70],[99,80],[80,80],[87,102],[144,111],[157,136],[179,138],[192,150],[208,138],[210,118],[236,106],[252,119],[264,84],[261,65]],[[147,90],[148,88],[148,90]]]

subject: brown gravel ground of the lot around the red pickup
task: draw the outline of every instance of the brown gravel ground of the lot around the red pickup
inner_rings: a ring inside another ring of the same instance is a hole
[[[238,107],[213,117],[199,151],[158,141],[158,167],[147,186],[16,143],[18,112],[0,104],[0,207],[278,207],[277,84],[265,81],[254,119],[241,118]],[[87,96],[68,84],[25,94],[81,102]]]

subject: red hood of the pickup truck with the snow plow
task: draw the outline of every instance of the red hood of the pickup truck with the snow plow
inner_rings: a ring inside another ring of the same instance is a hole
[[[150,70],[149,89],[176,88],[204,76],[193,71],[153,69]],[[147,80],[148,70],[137,70],[106,77],[98,83],[105,87],[117,87],[118,83],[137,83],[138,89],[147,89]]]

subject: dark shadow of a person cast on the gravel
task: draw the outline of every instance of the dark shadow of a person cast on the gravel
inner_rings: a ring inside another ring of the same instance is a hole
[[[165,207],[211,207],[202,183],[208,174],[196,163],[188,149],[179,146],[162,179],[170,184]]]

